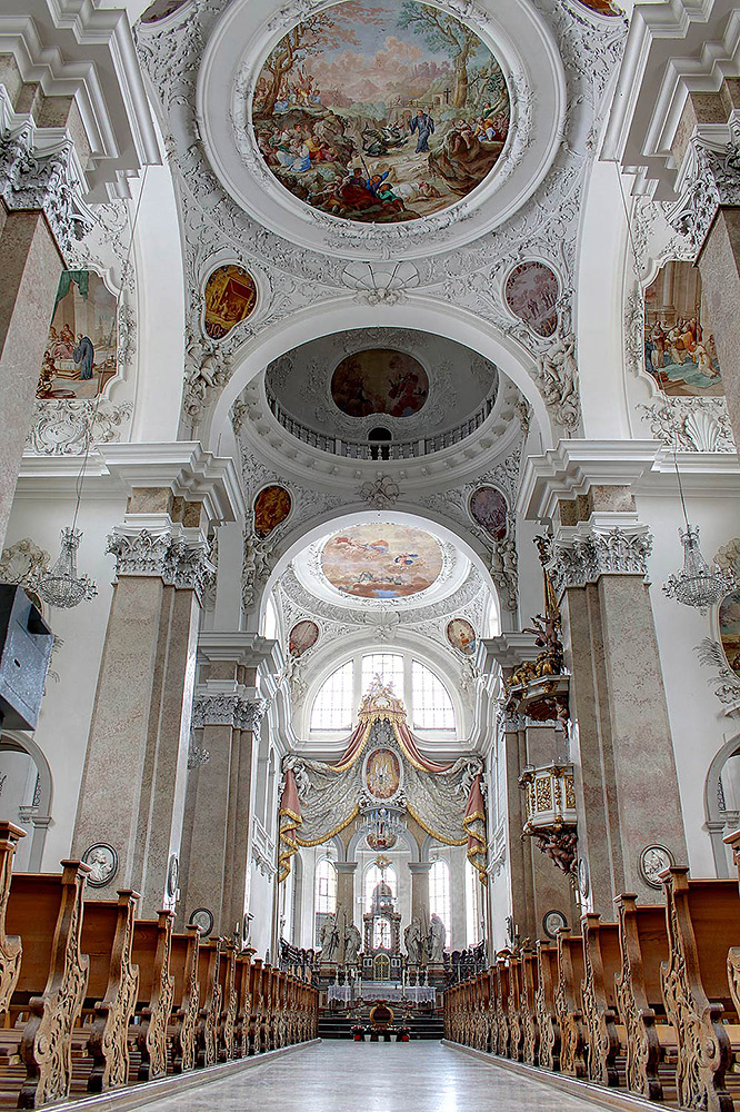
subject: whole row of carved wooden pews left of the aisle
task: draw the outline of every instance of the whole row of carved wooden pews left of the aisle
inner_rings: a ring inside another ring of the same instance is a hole
[[[171,911],[137,919],[136,892],[86,900],[79,861],[13,876],[21,837],[0,822],[0,1108],[141,1092],[317,1036],[312,985],[173,931]]]

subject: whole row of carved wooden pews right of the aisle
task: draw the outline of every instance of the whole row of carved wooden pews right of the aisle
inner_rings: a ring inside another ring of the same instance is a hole
[[[740,850],[740,831],[728,841]],[[738,866],[740,871],[740,865]],[[740,893],[673,866],[444,993],[447,1039],[658,1104],[740,1112]]]

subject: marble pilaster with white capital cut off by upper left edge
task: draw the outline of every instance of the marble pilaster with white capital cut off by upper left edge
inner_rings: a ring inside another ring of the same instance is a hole
[[[83,221],[81,163],[90,152],[72,97],[44,97],[4,57],[0,123],[0,549],[49,338],[63,251]],[[60,141],[60,133],[64,138]]]

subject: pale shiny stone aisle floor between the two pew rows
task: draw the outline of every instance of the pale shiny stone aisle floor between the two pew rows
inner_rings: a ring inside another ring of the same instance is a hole
[[[436,1042],[324,1042],[147,1112],[597,1112],[590,1101]],[[599,1110],[602,1112],[602,1110]]]

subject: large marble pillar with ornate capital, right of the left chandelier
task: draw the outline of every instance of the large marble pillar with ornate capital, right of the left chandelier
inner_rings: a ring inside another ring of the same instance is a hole
[[[173,906],[188,774],[199,597],[212,574],[201,504],[134,489],[109,537],[111,602],[86,755],[73,854],[113,846],[117,887],[141,914]]]

